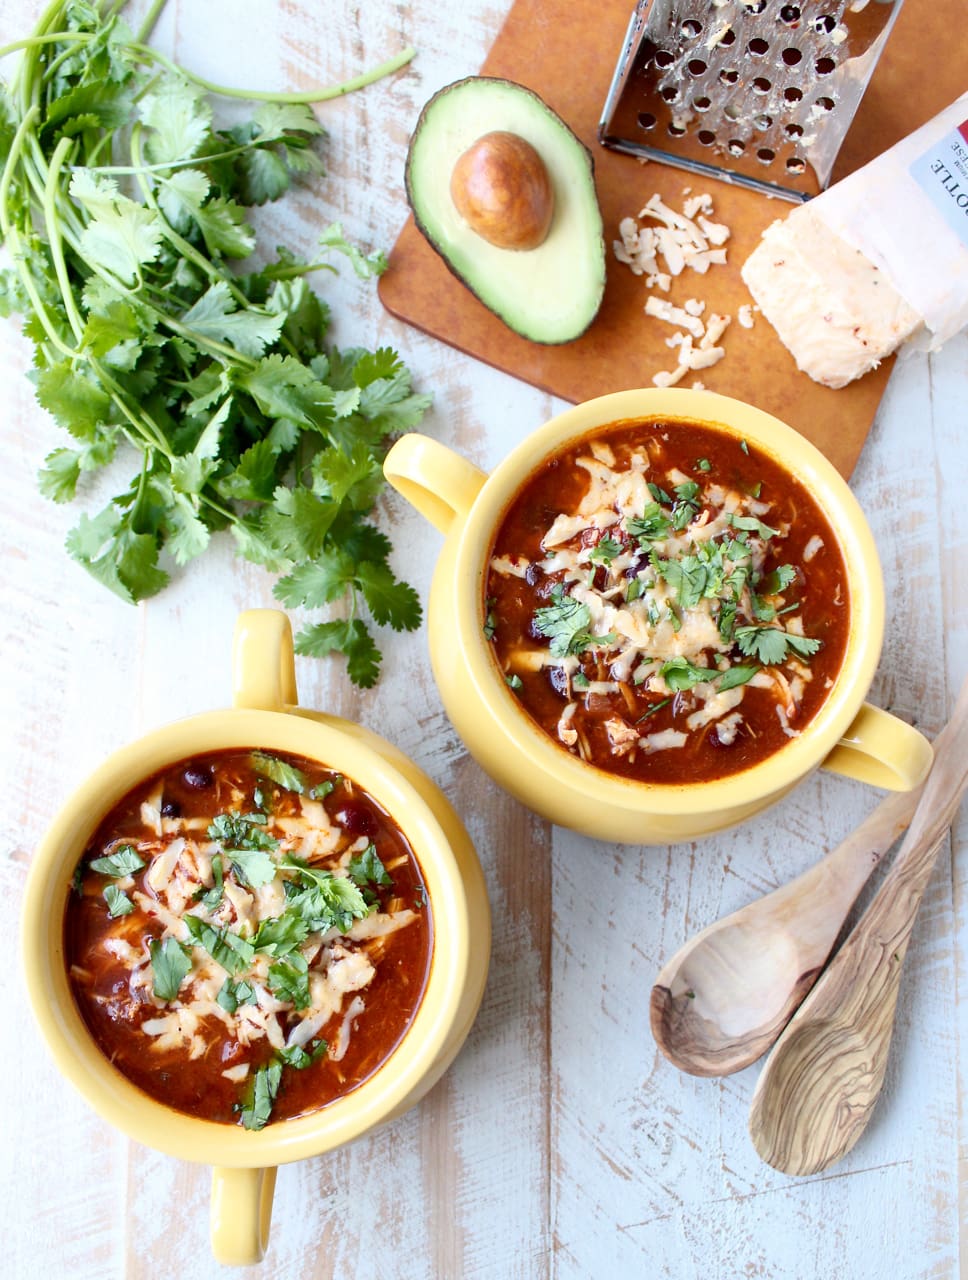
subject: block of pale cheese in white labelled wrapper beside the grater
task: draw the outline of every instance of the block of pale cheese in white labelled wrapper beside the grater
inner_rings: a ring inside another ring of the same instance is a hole
[[[844,387],[903,344],[936,349],[968,324],[968,218],[962,229],[958,209],[965,120],[968,95],[772,223],[744,264],[759,310],[814,381]],[[932,159],[941,145],[951,161]],[[968,178],[963,189],[968,197]]]

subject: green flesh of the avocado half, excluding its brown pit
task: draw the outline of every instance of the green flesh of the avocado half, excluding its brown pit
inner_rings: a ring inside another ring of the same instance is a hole
[[[516,133],[544,161],[554,193],[547,237],[536,248],[489,243],[451,197],[458,157],[483,134]],[[435,93],[407,154],[406,186],[416,225],[458,280],[508,328],[531,342],[571,342],[588,329],[604,293],[602,214],[592,154],[530,90],[472,76]]]

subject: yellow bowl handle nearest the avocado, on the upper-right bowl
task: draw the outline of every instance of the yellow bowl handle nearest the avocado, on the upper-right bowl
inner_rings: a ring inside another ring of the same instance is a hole
[[[397,440],[383,463],[383,474],[442,534],[467,515],[488,479],[460,453],[419,431]]]

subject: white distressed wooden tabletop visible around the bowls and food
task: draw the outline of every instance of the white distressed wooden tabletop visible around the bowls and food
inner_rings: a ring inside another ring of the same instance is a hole
[[[329,178],[271,215],[280,239],[306,248],[335,218],[388,247],[419,109],[479,68],[506,8],[170,0],[156,41],[211,78],[279,88],[342,79],[415,44],[407,73],[320,108]],[[0,0],[0,40],[23,35],[38,9]],[[425,430],[480,466],[563,407],[392,320],[371,285],[343,274],[325,288],[335,342],[396,346],[434,392]],[[45,824],[96,762],[168,719],[228,704],[234,617],[273,604],[273,582],[228,541],[140,608],[87,577],[63,550],[76,512],[36,492],[60,442],[27,366],[27,343],[4,323],[0,1272],[195,1280],[220,1274],[207,1171],[119,1137],[61,1080],[22,996],[18,906]],[[967,403],[965,335],[900,365],[853,479],[887,585],[873,698],[930,735],[968,675]],[[439,536],[396,495],[380,521],[425,599]],[[968,817],[917,924],[873,1123],[827,1174],[790,1179],[746,1135],[758,1068],[722,1082],[680,1075],[649,1034],[648,992],[686,937],[804,870],[876,794],[818,774],[700,844],[598,845],[529,815],[481,774],[442,710],[423,631],[383,641],[375,690],[355,690],[335,662],[301,659],[301,698],[378,728],[456,803],[490,886],[490,978],[464,1052],[416,1110],[282,1170],[260,1274],[954,1280],[960,1260],[964,1275]]]

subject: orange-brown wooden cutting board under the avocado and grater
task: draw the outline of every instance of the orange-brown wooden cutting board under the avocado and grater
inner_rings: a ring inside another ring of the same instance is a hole
[[[968,87],[959,59],[959,0],[907,0],[841,148],[835,179],[864,164],[953,102]],[[516,0],[481,74],[503,76],[538,92],[571,125],[594,156],[604,220],[608,275],[602,310],[579,339],[543,347],[512,333],[448,271],[410,219],[380,279],[380,298],[396,316],[458,349],[577,403],[607,392],[648,387],[675,366],[666,344],[674,332],[643,314],[647,288],[615,261],[618,221],[635,215],[653,192],[676,209],[684,189],[709,191],[714,219],[731,229],[727,265],[706,276],[691,271],[662,294],[682,303],[704,298],[707,312],[734,316],[726,357],[684,379],[749,401],[795,426],[849,476],[883,394],[892,361],[840,390],[800,374],[770,325],[736,323],[749,294],[739,269],[759,234],[786,214],[785,201],[707,180],[654,161],[608,151],[597,141],[598,120],[625,37],[633,0]],[[875,214],[876,216],[876,214]]]

